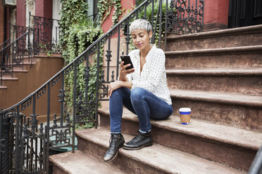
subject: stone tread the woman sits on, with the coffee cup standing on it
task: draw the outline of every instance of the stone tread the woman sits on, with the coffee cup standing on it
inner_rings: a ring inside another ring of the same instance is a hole
[[[99,113],[109,116],[109,109],[99,109]],[[123,119],[138,123],[137,116],[124,109]],[[162,121],[155,121],[151,119],[152,126],[166,129],[175,133],[183,133],[192,135],[206,140],[220,142],[229,146],[242,147],[257,151],[262,145],[262,133],[244,130],[241,128],[234,128],[231,126],[224,126],[217,123],[210,123],[208,121],[191,119],[189,125],[180,124],[180,116],[171,115],[168,119]],[[207,131],[208,130],[208,131]]]

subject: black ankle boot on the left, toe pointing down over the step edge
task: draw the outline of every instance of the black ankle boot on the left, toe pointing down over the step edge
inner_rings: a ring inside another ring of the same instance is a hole
[[[118,149],[123,147],[125,139],[122,134],[111,134],[108,150],[104,156],[104,161],[109,162],[116,158]]]

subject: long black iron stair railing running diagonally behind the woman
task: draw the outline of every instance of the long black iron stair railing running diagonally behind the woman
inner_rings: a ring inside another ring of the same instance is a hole
[[[99,101],[108,100],[108,84],[116,79],[119,71],[119,58],[120,53],[129,53],[130,49],[130,36],[129,26],[132,20],[135,20],[139,16],[146,18],[146,11],[151,10],[154,16],[154,8],[157,8],[156,18],[151,18],[151,22],[154,25],[154,36],[158,31],[158,45],[161,44],[161,34],[163,31],[169,33],[173,31],[171,28],[177,26],[172,25],[169,17],[177,18],[181,21],[177,21],[181,26],[185,25],[185,22],[189,22],[189,25],[195,23],[196,27],[203,27],[203,9],[204,1],[197,0],[197,10],[194,10],[195,20],[185,19],[185,16],[192,15],[191,11],[187,10],[183,5],[192,6],[185,1],[171,1],[168,6],[168,1],[154,1],[146,0],[142,2],[134,11],[127,15],[123,20],[113,26],[106,34],[94,41],[86,51],[79,55],[75,60],[70,62],[66,67],[61,69],[56,75],[54,75],[49,81],[46,81],[35,92],[28,95],[24,100],[17,104],[4,109],[0,112],[0,170],[1,173],[48,173],[49,170],[49,149],[57,147],[72,147],[72,152],[75,149],[75,125],[77,123],[94,123],[96,127],[98,124]],[[162,5],[166,4],[166,16],[163,18]],[[196,5],[194,5],[196,6]],[[150,9],[149,9],[150,8]],[[153,9],[151,9],[153,8]],[[180,11],[181,9],[181,11]],[[185,10],[182,10],[185,9]],[[191,8],[190,8],[191,9]],[[197,14],[196,14],[197,13]],[[201,19],[201,22],[199,22]],[[165,21],[165,25],[162,25],[162,21]],[[183,22],[183,23],[182,23]],[[40,27],[41,28],[41,27]],[[170,28],[171,30],[168,30]],[[35,30],[32,29],[32,30]],[[179,31],[181,29],[178,29]],[[177,30],[177,31],[178,31]],[[188,32],[197,32],[201,29],[187,30]],[[36,32],[35,32],[36,33]],[[39,35],[41,35],[38,32]],[[47,32],[49,34],[49,32]],[[35,36],[35,35],[34,35]],[[116,36],[116,37],[114,37]],[[45,38],[44,36],[42,38]],[[113,47],[116,48],[116,55],[112,61],[112,39],[117,40],[117,44]],[[123,40],[125,40],[125,46],[123,46]],[[45,41],[45,40],[44,40]],[[154,40],[153,40],[154,41]],[[44,42],[48,44],[49,42]],[[100,48],[104,47],[107,43],[106,66],[101,67],[101,55]],[[34,46],[35,47],[35,46]],[[93,91],[94,98],[89,96],[87,90],[89,88],[89,72],[90,66],[89,60],[96,53],[96,90]],[[84,62],[87,62],[85,65]],[[113,62],[115,62],[113,64]],[[80,66],[85,67],[85,91],[77,90],[79,84],[77,83],[77,68]],[[99,75],[99,72],[102,74]],[[68,76],[73,76],[73,112],[66,110],[67,104],[66,96],[68,91],[65,91],[65,79]],[[60,90],[56,91],[55,86],[60,86]],[[54,113],[51,108],[51,98],[57,98],[60,105],[60,113]],[[79,96],[79,97],[78,97]],[[39,124],[37,110],[39,109],[39,102],[43,102],[40,107],[46,108],[46,122]],[[29,115],[23,113],[30,112]],[[51,120],[54,118],[53,120]],[[8,130],[8,131],[6,131]],[[53,137],[53,138],[51,138]]]

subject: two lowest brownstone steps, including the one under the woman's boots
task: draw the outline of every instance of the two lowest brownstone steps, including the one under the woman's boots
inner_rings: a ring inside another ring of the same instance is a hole
[[[131,135],[123,134],[125,141],[132,139]],[[176,149],[164,147],[154,143],[152,147],[145,147],[140,150],[128,151],[121,148],[118,152],[118,157],[109,163],[102,161],[102,157],[108,148],[108,139],[110,131],[106,128],[90,128],[87,130],[77,131],[79,140],[79,150],[75,154],[69,152],[67,154],[59,154],[51,156],[50,159],[54,163],[55,173],[56,168],[63,170],[63,173],[89,173],[94,165],[99,166],[99,169],[106,168],[107,173],[243,173],[234,168],[223,166],[213,161],[201,159],[192,154],[180,152]],[[84,157],[77,157],[79,154],[85,154]],[[90,157],[92,156],[92,157]],[[87,162],[87,159],[96,158],[96,164]],[[72,160],[71,160],[72,159]],[[56,166],[56,163],[58,165]],[[89,163],[91,163],[89,165]],[[108,165],[113,169],[109,169]],[[79,167],[77,167],[79,166]],[[84,170],[81,170],[85,168]],[[90,169],[91,168],[91,169]],[[119,170],[116,170],[118,168]],[[92,173],[92,172],[91,172]],[[102,173],[102,172],[101,172]]]

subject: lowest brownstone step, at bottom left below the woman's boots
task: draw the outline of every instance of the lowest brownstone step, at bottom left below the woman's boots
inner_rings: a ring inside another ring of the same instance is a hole
[[[108,163],[98,161],[89,154],[84,154],[79,150],[56,154],[49,156],[49,161],[53,163],[53,174],[108,174],[108,173],[124,173],[118,168],[114,168]]]

